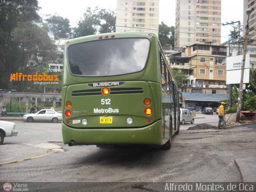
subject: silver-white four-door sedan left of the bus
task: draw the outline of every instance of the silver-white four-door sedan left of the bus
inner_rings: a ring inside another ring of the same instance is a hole
[[[62,114],[52,109],[41,109],[37,113],[25,114],[23,121],[52,121],[54,123],[62,121]]]

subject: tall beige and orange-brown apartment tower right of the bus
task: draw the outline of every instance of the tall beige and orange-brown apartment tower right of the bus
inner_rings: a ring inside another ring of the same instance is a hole
[[[219,45],[221,0],[176,0],[175,47]]]

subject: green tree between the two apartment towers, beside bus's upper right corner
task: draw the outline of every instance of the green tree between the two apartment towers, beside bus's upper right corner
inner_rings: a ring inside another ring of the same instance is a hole
[[[174,26],[168,27],[164,22],[161,22],[158,37],[161,45],[171,44],[174,47]]]

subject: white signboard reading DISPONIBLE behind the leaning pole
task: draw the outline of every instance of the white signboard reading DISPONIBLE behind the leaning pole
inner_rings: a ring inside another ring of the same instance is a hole
[[[240,84],[243,56],[238,55],[234,57],[227,57],[226,59],[227,59],[226,84]],[[249,83],[249,76],[250,76],[250,54],[246,54],[243,83]]]

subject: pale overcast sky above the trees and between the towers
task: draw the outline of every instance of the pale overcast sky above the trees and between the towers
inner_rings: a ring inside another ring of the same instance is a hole
[[[68,18],[72,27],[77,26],[87,7],[106,8],[116,10],[117,0],[38,0],[41,7],[39,13],[42,18],[47,14],[55,13],[63,18]],[[243,22],[243,0],[222,0],[221,22]],[[175,26],[175,5],[176,0],[159,0],[159,23],[162,21],[168,26]],[[228,34],[232,27],[222,26],[221,42],[228,40]]]

